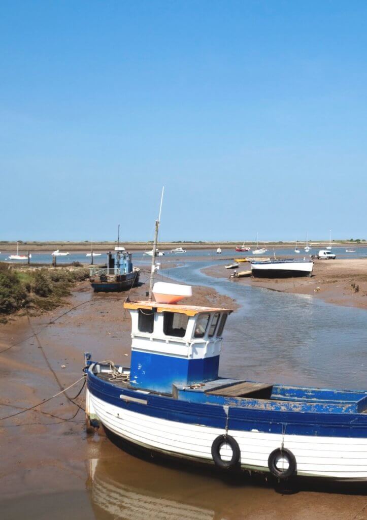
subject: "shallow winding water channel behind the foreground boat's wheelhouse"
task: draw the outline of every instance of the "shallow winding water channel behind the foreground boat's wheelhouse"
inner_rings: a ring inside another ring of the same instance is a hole
[[[207,285],[240,304],[226,324],[220,375],[367,390],[367,313],[212,278],[195,262],[165,270],[177,281]]]

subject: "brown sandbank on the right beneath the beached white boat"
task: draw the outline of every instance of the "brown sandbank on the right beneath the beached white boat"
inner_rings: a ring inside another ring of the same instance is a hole
[[[237,270],[250,270],[250,264],[241,263]],[[203,269],[216,278],[229,278],[232,269],[217,265]],[[367,309],[367,258],[347,260],[315,260],[312,277],[270,279],[235,278],[234,283],[263,287],[273,291],[308,294],[327,303]]]

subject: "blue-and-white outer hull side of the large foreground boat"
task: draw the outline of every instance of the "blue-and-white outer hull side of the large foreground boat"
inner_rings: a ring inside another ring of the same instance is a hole
[[[227,408],[227,411],[226,411]],[[108,431],[164,455],[214,464],[214,440],[228,434],[240,449],[239,465],[269,472],[273,450],[296,459],[296,475],[340,480],[367,479],[367,417],[287,413],[188,402],[117,387],[88,372],[86,410]],[[230,460],[228,445],[221,458]]]

